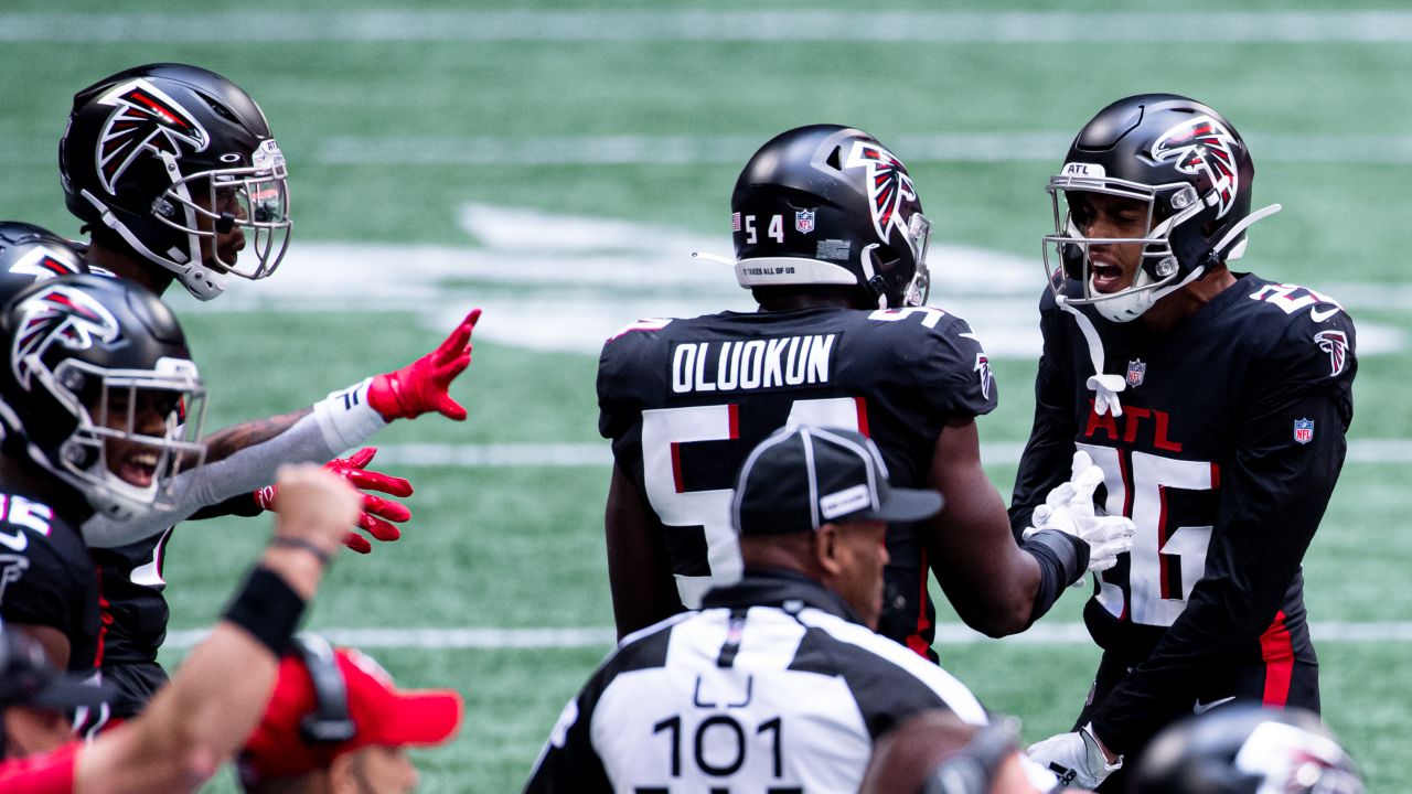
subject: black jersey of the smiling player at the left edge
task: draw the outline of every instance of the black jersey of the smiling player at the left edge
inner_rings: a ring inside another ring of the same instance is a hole
[[[48,503],[0,489],[0,617],[62,632],[69,670],[92,672],[102,653],[102,626],[97,569],[83,538]]]

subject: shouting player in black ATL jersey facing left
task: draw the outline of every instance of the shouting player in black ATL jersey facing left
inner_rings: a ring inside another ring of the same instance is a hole
[[[1012,523],[1075,451],[1137,526],[1084,619],[1103,660],[1072,733],[1031,752],[1097,786],[1214,702],[1319,709],[1300,559],[1343,466],[1357,372],[1333,298],[1237,273],[1254,165],[1216,110],[1130,96],[1049,181],[1043,356]],[[1114,780],[1103,790],[1117,790]]]

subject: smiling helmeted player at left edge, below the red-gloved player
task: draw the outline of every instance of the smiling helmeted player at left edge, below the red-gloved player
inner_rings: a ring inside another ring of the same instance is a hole
[[[99,593],[79,527],[171,499],[205,452],[205,390],[171,311],[113,278],[21,290],[0,345],[0,617],[56,665],[93,671]]]

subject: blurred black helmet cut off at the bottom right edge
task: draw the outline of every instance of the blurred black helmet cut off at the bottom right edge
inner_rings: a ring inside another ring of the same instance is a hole
[[[1131,794],[1363,794],[1363,778],[1319,718],[1233,704],[1168,728],[1128,780]]]

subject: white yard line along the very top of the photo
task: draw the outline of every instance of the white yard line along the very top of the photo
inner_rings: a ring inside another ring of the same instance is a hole
[[[1408,42],[1412,13],[1367,11],[843,11],[340,10],[10,13],[0,41],[799,41],[799,42]]]

